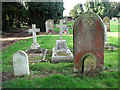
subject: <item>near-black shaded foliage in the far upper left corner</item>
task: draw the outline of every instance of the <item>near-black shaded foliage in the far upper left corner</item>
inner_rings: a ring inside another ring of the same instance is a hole
[[[24,19],[25,14],[24,11],[25,7],[20,2],[3,2],[2,3],[3,31],[9,32],[9,29],[21,28],[20,23],[22,22],[22,19]]]

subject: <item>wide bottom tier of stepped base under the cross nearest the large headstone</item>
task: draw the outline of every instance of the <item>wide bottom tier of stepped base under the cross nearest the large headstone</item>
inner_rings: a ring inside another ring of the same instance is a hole
[[[53,48],[51,62],[57,63],[57,62],[73,62],[73,61],[74,61],[74,57],[69,48],[63,51],[56,51],[55,47]]]

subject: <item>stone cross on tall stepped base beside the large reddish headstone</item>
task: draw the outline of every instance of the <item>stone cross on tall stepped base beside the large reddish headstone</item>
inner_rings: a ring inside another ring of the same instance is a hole
[[[63,40],[63,20],[60,20],[60,40],[56,40],[53,48],[51,62],[73,62],[73,54],[67,47],[66,40]]]

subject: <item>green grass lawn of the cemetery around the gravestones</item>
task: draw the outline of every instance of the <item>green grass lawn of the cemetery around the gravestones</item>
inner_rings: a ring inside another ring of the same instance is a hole
[[[13,54],[18,50],[26,51],[33,39],[16,42],[2,51],[3,88],[118,88],[118,21],[111,21],[108,42],[115,46],[114,51],[104,50],[104,70],[95,75],[73,73],[73,63],[51,63],[52,48],[59,35],[37,37],[41,48],[48,49],[47,62],[29,63],[30,75],[15,77]],[[57,31],[58,29],[55,28]],[[70,31],[72,32],[72,30]],[[73,53],[73,35],[63,35],[63,40]],[[39,58],[40,59],[40,58]],[[35,59],[33,59],[35,60]]]

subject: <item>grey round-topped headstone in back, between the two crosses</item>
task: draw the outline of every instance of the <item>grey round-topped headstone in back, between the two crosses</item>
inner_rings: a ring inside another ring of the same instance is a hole
[[[54,21],[52,19],[48,19],[45,22],[46,25],[46,33],[49,33],[49,31],[54,32]]]

